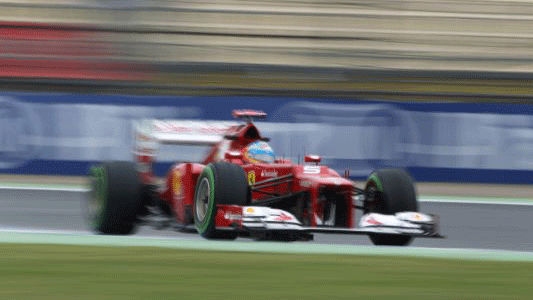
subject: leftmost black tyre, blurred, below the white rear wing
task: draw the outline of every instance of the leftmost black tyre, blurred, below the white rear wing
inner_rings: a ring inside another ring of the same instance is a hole
[[[135,165],[109,162],[89,171],[91,189],[84,214],[97,233],[126,235],[134,231],[141,208],[141,182]]]

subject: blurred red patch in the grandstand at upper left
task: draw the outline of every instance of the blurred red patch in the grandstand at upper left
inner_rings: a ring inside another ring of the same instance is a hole
[[[113,59],[113,43],[75,25],[0,22],[0,77],[140,80],[139,64]],[[144,77],[144,79],[147,79]]]

